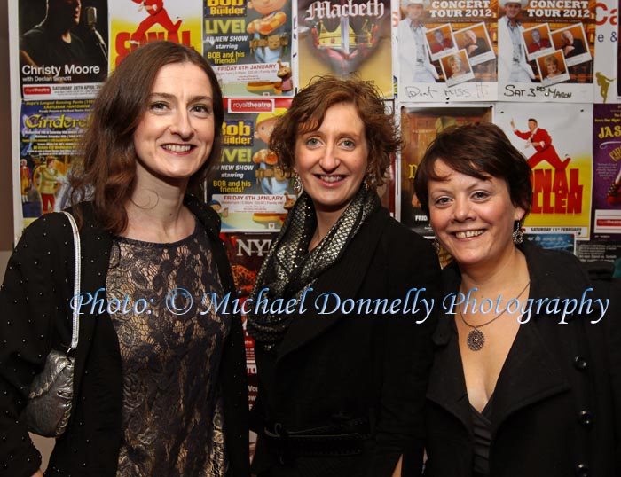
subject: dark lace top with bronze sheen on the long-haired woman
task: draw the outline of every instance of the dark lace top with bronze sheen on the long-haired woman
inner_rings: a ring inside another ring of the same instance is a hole
[[[230,317],[201,302],[223,293],[206,232],[197,224],[173,244],[115,238],[106,292],[122,356],[117,475],[224,475],[217,374]]]

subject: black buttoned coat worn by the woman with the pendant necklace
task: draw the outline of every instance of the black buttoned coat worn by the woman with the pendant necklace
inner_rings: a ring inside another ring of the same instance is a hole
[[[530,298],[580,298],[592,286],[578,259],[524,243]],[[454,264],[445,292],[456,291]],[[593,293],[589,293],[593,297]],[[615,298],[614,293],[610,293]],[[617,296],[618,298],[618,296]],[[613,307],[617,307],[613,309]],[[494,390],[490,475],[621,475],[621,313],[613,301],[598,324],[591,315],[544,310],[520,326]],[[454,317],[439,318],[429,379],[426,475],[472,475],[473,425]]]

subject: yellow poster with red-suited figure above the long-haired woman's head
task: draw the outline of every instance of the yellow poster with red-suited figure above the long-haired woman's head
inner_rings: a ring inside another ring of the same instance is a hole
[[[124,0],[110,3],[110,71],[130,51],[157,40],[202,53],[202,0]]]

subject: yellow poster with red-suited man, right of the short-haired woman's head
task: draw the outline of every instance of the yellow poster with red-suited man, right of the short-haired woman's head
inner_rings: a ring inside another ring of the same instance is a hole
[[[532,171],[527,233],[573,233],[590,237],[593,105],[550,104],[535,108],[499,103],[494,122]]]

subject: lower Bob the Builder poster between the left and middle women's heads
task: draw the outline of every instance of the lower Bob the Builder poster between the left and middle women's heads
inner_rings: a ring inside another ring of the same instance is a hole
[[[278,231],[297,198],[268,148],[291,98],[224,98],[223,154],[208,192],[223,231]]]

